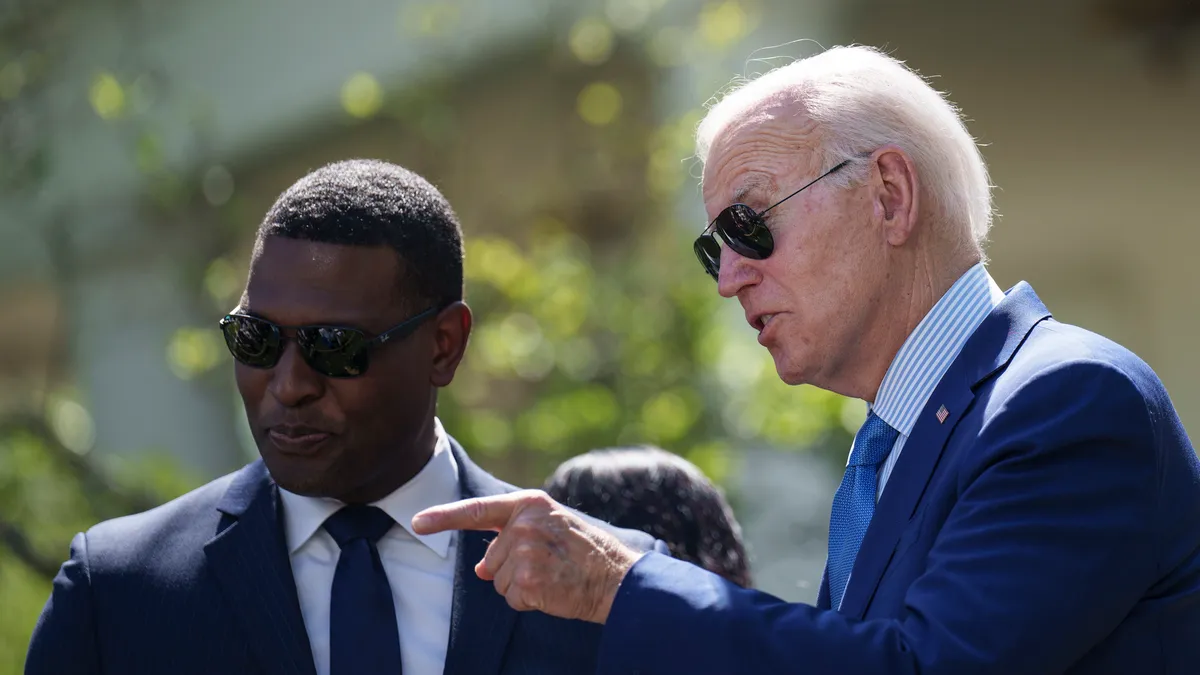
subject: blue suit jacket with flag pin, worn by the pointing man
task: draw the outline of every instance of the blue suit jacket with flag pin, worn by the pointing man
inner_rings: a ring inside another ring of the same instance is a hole
[[[822,586],[788,604],[650,554],[599,673],[1200,673],[1200,461],[1146,364],[1021,283],[922,412],[841,611]]]

